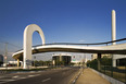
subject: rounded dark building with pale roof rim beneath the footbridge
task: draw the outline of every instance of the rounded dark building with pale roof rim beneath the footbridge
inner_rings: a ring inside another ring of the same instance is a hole
[[[72,56],[67,53],[52,55],[53,65],[70,65]]]

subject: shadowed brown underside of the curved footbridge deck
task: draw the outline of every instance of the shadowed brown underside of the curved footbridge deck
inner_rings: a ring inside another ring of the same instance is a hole
[[[80,52],[80,53],[115,53],[115,55],[126,55],[126,49],[124,50],[97,50],[97,49],[74,49],[74,48],[34,48],[34,53],[40,52],[54,52],[54,51],[63,51],[63,52]],[[13,56],[14,59],[23,60],[23,50],[20,53]]]

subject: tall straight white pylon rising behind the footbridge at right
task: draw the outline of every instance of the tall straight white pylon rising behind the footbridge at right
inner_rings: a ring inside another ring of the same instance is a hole
[[[116,13],[115,10],[112,10],[112,40],[116,40]],[[112,45],[116,45],[116,43],[112,43]],[[112,64],[116,67],[115,55],[112,55]]]

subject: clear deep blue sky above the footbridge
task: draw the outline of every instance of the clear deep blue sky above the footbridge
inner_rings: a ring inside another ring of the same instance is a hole
[[[126,0],[0,0],[0,41],[22,48],[29,24],[41,27],[46,43],[108,41],[112,10],[116,11],[117,39],[125,38]],[[40,44],[34,33],[33,45]]]

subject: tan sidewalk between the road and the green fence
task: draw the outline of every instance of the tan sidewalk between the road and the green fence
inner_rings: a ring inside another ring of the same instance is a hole
[[[75,84],[111,84],[90,69],[84,69]]]

